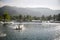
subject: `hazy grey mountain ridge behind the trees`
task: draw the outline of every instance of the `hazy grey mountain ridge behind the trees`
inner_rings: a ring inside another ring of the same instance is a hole
[[[4,13],[4,11],[8,11],[10,15],[31,15],[40,17],[42,15],[54,15],[60,13],[60,10],[52,10],[49,8],[18,8],[11,6],[4,6],[0,8],[0,15]]]

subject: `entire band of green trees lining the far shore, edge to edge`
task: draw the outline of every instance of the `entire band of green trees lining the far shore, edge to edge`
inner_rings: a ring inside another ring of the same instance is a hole
[[[7,11],[4,12],[3,15],[0,16],[0,21],[11,21],[11,20],[16,20],[16,21],[32,21],[32,20],[42,20],[42,21],[49,21],[49,20],[54,20],[54,21],[60,21],[60,13],[58,15],[49,15],[49,16],[44,16],[42,15],[41,17],[36,17],[36,16],[30,16],[30,15],[18,15],[18,16],[11,16]]]

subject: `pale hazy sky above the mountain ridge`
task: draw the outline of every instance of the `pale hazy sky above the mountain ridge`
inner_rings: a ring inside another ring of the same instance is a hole
[[[16,7],[45,7],[60,10],[60,0],[0,0],[0,7],[4,5]]]

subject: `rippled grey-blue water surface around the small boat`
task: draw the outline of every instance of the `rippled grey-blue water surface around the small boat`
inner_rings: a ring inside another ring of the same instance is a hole
[[[28,22],[29,23],[29,22]],[[6,37],[0,40],[59,40],[60,26],[57,23],[50,24],[24,24],[22,30],[14,30],[16,24],[3,26],[0,24],[0,31],[6,33]]]

